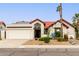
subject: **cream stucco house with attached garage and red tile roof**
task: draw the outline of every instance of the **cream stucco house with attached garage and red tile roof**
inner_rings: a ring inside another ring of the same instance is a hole
[[[75,38],[75,29],[74,27],[67,22],[66,20],[62,19],[57,20],[56,22],[46,21],[43,22],[39,19],[35,19],[31,22],[20,21],[10,25],[7,25],[4,29],[3,37],[5,39],[34,39],[40,38],[45,35],[50,36],[51,38],[56,37],[57,32],[61,32],[61,23],[63,26],[63,37],[64,35],[68,35],[68,38],[71,36]]]

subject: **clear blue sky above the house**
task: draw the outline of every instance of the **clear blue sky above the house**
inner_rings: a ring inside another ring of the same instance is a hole
[[[59,20],[56,11],[58,3],[0,3],[0,21],[6,24],[17,21],[42,21]],[[72,22],[75,13],[79,13],[79,3],[63,3],[63,18]]]

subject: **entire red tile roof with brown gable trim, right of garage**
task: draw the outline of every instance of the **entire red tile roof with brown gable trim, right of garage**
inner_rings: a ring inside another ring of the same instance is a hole
[[[35,19],[35,20],[33,20],[32,22],[30,22],[30,23],[33,23],[33,22],[35,22],[35,21],[40,21],[40,22],[42,22],[43,24],[44,24],[44,28],[45,29],[48,29],[49,27],[51,27],[51,26],[53,26],[54,24],[56,24],[57,22],[61,22],[60,20],[57,20],[56,22],[52,22],[52,21],[45,21],[45,22],[43,22],[43,21],[41,21],[40,19]],[[67,24],[69,24],[70,26],[72,26],[72,24],[70,24],[69,22],[67,22],[66,20],[64,20],[64,19],[62,19],[62,24],[66,27],[66,28],[69,28],[69,26],[68,25],[66,25],[65,23],[67,23]],[[72,26],[73,27],[73,26]]]

